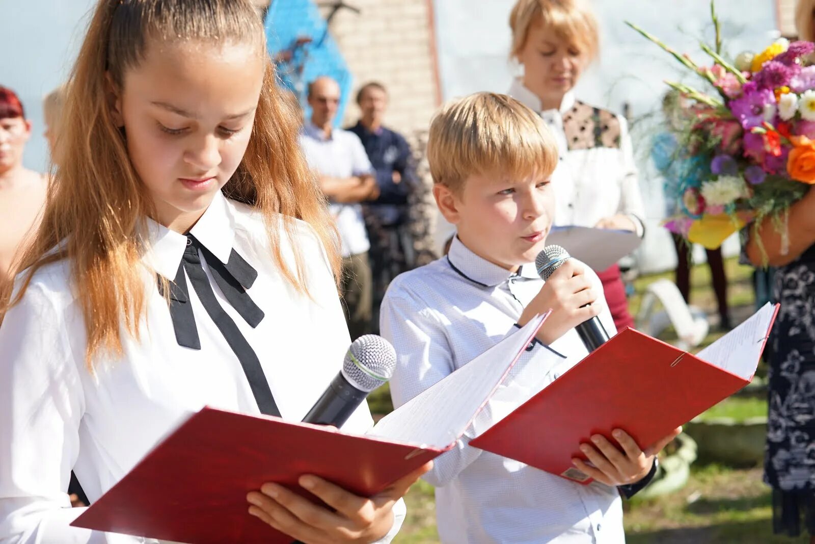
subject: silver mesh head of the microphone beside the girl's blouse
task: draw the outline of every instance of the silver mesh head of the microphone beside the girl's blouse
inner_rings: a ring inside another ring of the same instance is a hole
[[[373,391],[394,375],[396,351],[377,334],[365,334],[351,343],[342,374],[359,391]]]

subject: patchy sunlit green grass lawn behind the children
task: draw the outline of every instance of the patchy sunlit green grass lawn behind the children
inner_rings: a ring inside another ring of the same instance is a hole
[[[734,324],[752,314],[754,307],[752,268],[725,261],[729,279],[728,299]],[[633,282],[636,294],[629,300],[632,315],[639,310],[645,287],[660,277],[673,278],[672,272],[642,276]],[[707,265],[694,267],[690,302],[711,315],[716,314],[716,299],[710,288]],[[723,332],[712,329],[701,347],[719,338]],[[672,330],[660,338],[676,339]],[[390,411],[390,395],[383,387],[369,397],[372,412]],[[748,418],[766,414],[764,398],[731,398],[714,406],[706,417]],[[770,489],[761,481],[761,469],[733,469],[721,465],[691,468],[689,483],[677,493],[648,501],[634,498],[624,502],[625,529],[629,544],[798,544],[808,537],[775,537],[772,534]],[[407,520],[396,542],[433,544],[438,542],[434,520],[433,488],[416,484],[405,498]]]

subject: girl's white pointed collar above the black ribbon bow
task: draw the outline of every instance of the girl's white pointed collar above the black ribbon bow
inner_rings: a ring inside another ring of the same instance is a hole
[[[148,261],[161,276],[173,279],[187,247],[187,237],[166,228],[152,219],[147,220]],[[213,201],[201,215],[190,234],[226,264],[235,241],[235,216],[222,192],[215,193]]]

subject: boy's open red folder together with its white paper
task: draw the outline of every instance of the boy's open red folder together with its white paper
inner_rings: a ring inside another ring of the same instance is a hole
[[[755,356],[742,361],[741,375],[703,360],[704,352],[625,329],[469,445],[588,484],[571,462],[586,459],[579,444],[594,434],[616,444],[610,432],[620,428],[645,448],[746,386],[777,314],[778,305],[765,306],[751,318],[762,319],[739,325],[709,352]]]

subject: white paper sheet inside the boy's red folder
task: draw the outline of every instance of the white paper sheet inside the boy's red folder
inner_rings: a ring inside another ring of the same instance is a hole
[[[751,379],[756,374],[764,338],[769,334],[774,314],[775,305],[764,304],[747,321],[711,343],[696,356],[744,379]]]

